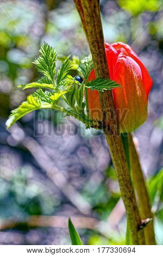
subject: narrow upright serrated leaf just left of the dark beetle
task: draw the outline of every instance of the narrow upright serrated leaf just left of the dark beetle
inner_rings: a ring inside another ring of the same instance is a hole
[[[68,75],[68,72],[71,69],[69,59],[70,59],[70,56],[68,56],[65,59],[64,63],[62,63],[60,69],[57,72],[57,86],[59,86],[60,82],[66,78],[66,76]]]

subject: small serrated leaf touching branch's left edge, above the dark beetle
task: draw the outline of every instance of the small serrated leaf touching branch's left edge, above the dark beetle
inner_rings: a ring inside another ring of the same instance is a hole
[[[91,57],[85,58],[84,63],[79,64],[79,72],[83,75],[83,77],[87,80],[90,75],[91,70],[93,69],[93,62]]]

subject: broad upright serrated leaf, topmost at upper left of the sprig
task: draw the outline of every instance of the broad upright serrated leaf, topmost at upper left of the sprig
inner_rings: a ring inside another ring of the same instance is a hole
[[[57,52],[52,46],[49,46],[47,42],[43,42],[40,49],[41,56],[34,60],[37,70],[47,76],[52,82],[54,81],[55,62],[57,61]]]

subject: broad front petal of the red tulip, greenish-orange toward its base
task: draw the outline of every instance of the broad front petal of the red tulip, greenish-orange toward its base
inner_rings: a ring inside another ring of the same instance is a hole
[[[112,80],[123,87],[112,90],[120,132],[134,131],[147,118],[147,96],[140,66],[121,53]]]

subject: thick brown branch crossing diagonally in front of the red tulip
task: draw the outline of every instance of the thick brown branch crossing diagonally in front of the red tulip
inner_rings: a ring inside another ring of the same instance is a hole
[[[99,1],[78,0],[74,2],[77,5],[79,13],[80,7],[82,6],[82,11],[84,13],[84,23],[86,26],[86,35],[91,49],[96,77],[108,78],[109,70],[106,61],[104,36],[99,11]],[[118,182],[120,184],[122,199],[129,221],[131,238],[134,245],[144,244],[145,239],[143,230],[138,231],[138,227],[141,224],[141,218],[136,205],[135,193],[130,180],[122,140],[118,135],[118,125],[112,92],[108,91],[101,93],[100,101],[103,111],[105,136],[110,148],[110,154],[116,170]]]

